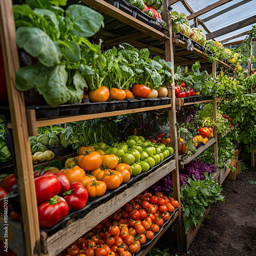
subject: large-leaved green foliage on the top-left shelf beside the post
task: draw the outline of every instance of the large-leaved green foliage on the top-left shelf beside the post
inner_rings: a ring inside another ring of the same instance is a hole
[[[84,37],[94,35],[103,25],[103,16],[89,7],[70,5],[64,16],[63,9],[51,5],[66,2],[27,0],[26,5],[13,6],[16,43],[38,58],[35,65],[17,71],[15,86],[20,91],[35,88],[54,107],[81,102],[88,85],[77,79],[77,73],[80,65],[87,65],[82,57],[91,46]]]

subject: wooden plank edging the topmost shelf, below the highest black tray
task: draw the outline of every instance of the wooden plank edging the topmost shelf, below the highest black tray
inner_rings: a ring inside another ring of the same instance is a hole
[[[148,35],[151,35],[152,37],[160,40],[165,41],[169,39],[164,33],[154,29],[153,27],[141,22],[137,18],[119,10],[118,8],[114,7],[113,5],[106,3],[103,0],[82,0],[84,4],[87,4],[89,6],[92,6],[96,8],[98,11],[101,11],[105,14],[108,14],[118,20],[120,22],[127,24],[135,29],[138,29],[139,31],[143,33],[147,33]]]

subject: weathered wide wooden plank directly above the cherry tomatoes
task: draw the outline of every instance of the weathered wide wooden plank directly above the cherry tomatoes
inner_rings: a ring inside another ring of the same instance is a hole
[[[152,172],[147,177],[139,180],[129,188],[126,188],[122,193],[118,194],[108,202],[105,202],[97,208],[88,212],[86,216],[71,223],[68,227],[63,228],[51,236],[47,237],[42,244],[46,244],[48,256],[57,255],[75,240],[80,238],[84,233],[92,229],[99,222],[113,214],[117,209],[129,202],[143,190],[153,185],[155,182],[163,178],[168,173],[176,168],[176,160],[171,160],[155,172]],[[77,216],[79,218],[79,216]],[[42,234],[42,233],[41,233]]]

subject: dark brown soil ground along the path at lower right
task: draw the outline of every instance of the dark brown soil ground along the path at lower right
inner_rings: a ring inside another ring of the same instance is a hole
[[[225,202],[210,209],[187,252],[160,239],[151,255],[256,255],[256,168],[247,168],[236,181],[225,179],[222,187]]]

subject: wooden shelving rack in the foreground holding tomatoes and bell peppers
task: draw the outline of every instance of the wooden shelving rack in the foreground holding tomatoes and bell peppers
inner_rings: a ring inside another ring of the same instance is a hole
[[[129,27],[129,35],[118,35],[112,33],[111,31],[101,29],[96,36],[103,38],[107,46],[128,42],[138,49],[148,48],[152,54],[164,57],[166,61],[173,61],[172,34],[169,35],[167,32],[166,35],[160,31],[157,31],[152,27],[140,22],[136,18],[104,2],[103,0],[83,0],[82,2],[102,12],[103,16],[108,15],[115,17],[113,18],[115,22],[125,24],[127,27]],[[15,43],[16,33],[12,11],[12,1],[1,1],[0,8],[0,31],[11,113],[11,123],[8,124],[8,127],[12,129],[13,133],[15,162],[17,165],[16,179],[19,187],[20,204],[22,206],[21,225],[24,234],[24,241],[21,240],[19,244],[24,245],[25,255],[57,255],[59,252],[61,252],[61,250],[65,249],[68,245],[81,237],[101,220],[111,215],[123,204],[129,202],[134,196],[167,174],[172,174],[174,196],[180,203],[179,169],[177,168],[178,157],[175,157],[175,160],[165,163],[152,174],[149,174],[147,177],[137,181],[131,187],[126,188],[122,193],[119,193],[111,200],[102,203],[97,208],[91,210],[85,217],[78,218],[66,228],[63,228],[50,236],[48,236],[48,234],[45,232],[40,232],[33,165],[31,161],[31,149],[28,140],[29,135],[31,136],[36,134],[37,127],[40,126],[167,108],[169,112],[170,137],[177,138],[177,133],[174,129],[174,124],[176,122],[175,94],[174,89],[168,89],[168,97],[172,100],[170,100],[170,102],[166,105],[156,107],[154,106],[134,110],[37,120],[35,111],[26,111],[23,93],[15,89],[15,73],[20,67],[17,46]],[[164,1],[163,10],[166,10],[164,19],[167,21],[169,20],[169,16],[167,14],[167,1]],[[167,25],[169,27],[171,26],[169,22],[167,22]],[[171,88],[170,85],[169,88]],[[178,156],[177,139],[172,140],[172,146],[176,149],[176,156]],[[175,220],[178,220],[178,225],[181,223],[180,208],[174,214],[167,227]],[[163,232],[164,231],[162,231],[162,233]],[[178,241],[181,241],[181,235],[181,233],[178,233]],[[153,245],[154,244],[152,244],[152,246]],[[12,244],[9,244],[9,246],[10,249],[12,249]],[[149,249],[141,251],[139,255],[145,255],[147,250]]]

